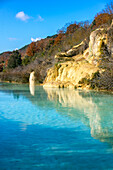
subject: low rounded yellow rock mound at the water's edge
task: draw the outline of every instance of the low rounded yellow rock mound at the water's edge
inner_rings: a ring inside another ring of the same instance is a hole
[[[65,62],[49,69],[44,86],[76,88],[93,78],[99,69],[87,62]],[[87,84],[86,88],[89,85]]]

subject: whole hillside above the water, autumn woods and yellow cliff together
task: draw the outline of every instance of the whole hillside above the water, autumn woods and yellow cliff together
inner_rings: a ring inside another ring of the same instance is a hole
[[[18,52],[0,54],[0,80],[28,83],[34,70],[36,83],[112,89],[112,7],[109,4],[92,23],[66,24],[57,34],[25,45]],[[98,81],[100,73],[103,77],[106,74],[110,85],[104,78]]]

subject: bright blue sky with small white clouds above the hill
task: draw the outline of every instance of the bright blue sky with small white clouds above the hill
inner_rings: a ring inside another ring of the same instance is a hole
[[[53,35],[71,21],[91,21],[108,0],[0,0],[0,53]]]

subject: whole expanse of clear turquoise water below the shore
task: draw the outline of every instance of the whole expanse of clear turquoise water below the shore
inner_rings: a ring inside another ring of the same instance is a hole
[[[7,169],[113,169],[113,94],[1,83]]]

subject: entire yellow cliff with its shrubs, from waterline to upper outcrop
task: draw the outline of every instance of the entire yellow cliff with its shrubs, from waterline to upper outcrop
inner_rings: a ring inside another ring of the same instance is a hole
[[[113,24],[93,31],[90,40],[65,53],[47,72],[44,86],[69,88],[113,88]]]

